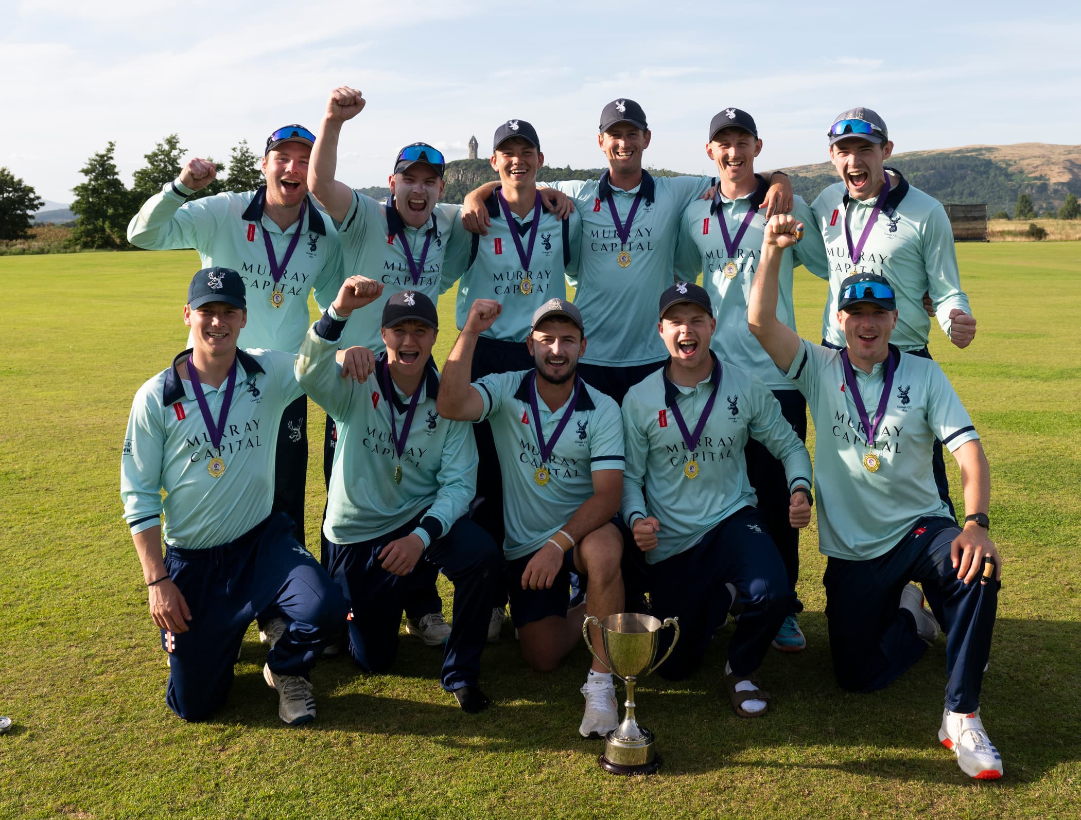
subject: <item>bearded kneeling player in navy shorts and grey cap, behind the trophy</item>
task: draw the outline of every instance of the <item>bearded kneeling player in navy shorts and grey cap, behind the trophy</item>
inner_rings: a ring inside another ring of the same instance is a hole
[[[578,309],[563,299],[533,313],[526,349],[536,367],[469,384],[477,338],[503,306],[477,299],[446,360],[439,414],[492,425],[503,472],[510,617],[525,662],[549,672],[582,640],[585,614],[623,611],[623,539],[611,519],[623,486],[619,408],[575,373],[586,349]],[[586,603],[568,609],[571,569],[586,577]],[[600,630],[593,647],[603,654]],[[603,737],[618,723],[612,675],[596,659],[582,687],[578,731]]]

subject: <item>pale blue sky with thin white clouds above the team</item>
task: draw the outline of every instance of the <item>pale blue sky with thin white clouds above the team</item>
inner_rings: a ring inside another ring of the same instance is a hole
[[[0,166],[69,203],[116,142],[125,183],[176,133],[187,157],[261,153],[276,127],[318,127],[337,85],[368,105],[343,129],[337,177],[385,185],[424,140],[480,156],[508,119],[549,165],[597,167],[600,111],[646,112],[646,165],[708,174],[711,117],[756,119],[757,167],[826,160],[842,110],[885,120],[895,151],[1081,143],[1081,3],[452,3],[393,0],[0,0]]]

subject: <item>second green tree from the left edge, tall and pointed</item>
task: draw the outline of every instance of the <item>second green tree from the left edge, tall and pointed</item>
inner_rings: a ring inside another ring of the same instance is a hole
[[[124,186],[114,161],[116,143],[91,157],[80,173],[86,182],[71,191],[71,212],[77,225],[68,242],[76,247],[120,250],[128,244],[128,220],[132,216],[131,191]]]

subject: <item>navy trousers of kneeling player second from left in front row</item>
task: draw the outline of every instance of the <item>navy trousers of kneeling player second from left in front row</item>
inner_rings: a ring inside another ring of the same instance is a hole
[[[503,555],[492,537],[461,517],[424,551],[409,575],[388,573],[378,561],[383,548],[412,533],[421,515],[390,533],[359,543],[330,545],[331,575],[351,606],[349,654],[365,672],[386,672],[398,655],[398,627],[405,596],[418,582],[417,569],[430,564],[454,584],[451,634],[440,684],[446,691],[476,686],[480,654],[488,638],[492,596],[501,580]],[[421,582],[424,582],[422,574]]]

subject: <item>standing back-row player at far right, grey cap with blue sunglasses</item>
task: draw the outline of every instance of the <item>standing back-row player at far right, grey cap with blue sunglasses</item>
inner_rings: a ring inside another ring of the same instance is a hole
[[[924,294],[950,341],[967,347],[976,335],[976,320],[961,290],[946,210],[909,185],[899,171],[884,166],[893,142],[885,122],[870,108],[838,115],[828,137],[829,159],[841,182],[826,188],[811,205],[829,257],[823,344],[839,350],[845,344],[836,310],[841,282],[853,273],[877,273],[890,280],[896,295],[892,344],[898,350],[931,358]],[[935,443],[932,458],[938,495],[952,515],[942,442]]]

